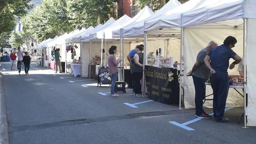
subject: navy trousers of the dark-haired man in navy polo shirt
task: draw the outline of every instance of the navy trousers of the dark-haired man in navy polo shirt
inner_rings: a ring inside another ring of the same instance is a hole
[[[216,72],[210,79],[211,88],[213,89],[214,117],[216,120],[222,120],[229,88],[229,77],[227,72]]]

